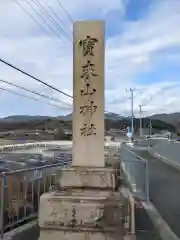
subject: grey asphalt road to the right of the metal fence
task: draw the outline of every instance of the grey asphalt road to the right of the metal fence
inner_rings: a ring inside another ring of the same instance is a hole
[[[180,172],[146,150],[133,151],[148,160],[150,201],[180,238]]]

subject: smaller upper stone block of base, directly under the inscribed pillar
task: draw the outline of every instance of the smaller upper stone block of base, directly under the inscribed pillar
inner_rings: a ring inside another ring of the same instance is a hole
[[[61,188],[114,189],[116,186],[116,172],[113,168],[63,168],[60,170],[59,183]]]

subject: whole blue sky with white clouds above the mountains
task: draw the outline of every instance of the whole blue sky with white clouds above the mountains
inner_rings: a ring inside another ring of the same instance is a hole
[[[55,31],[59,38],[51,33],[48,35],[49,29],[25,1],[17,1],[46,31],[23,12],[15,0],[1,0],[0,57],[72,94],[72,23],[57,0],[46,0],[61,20],[59,24],[68,33],[70,41],[58,29]],[[47,13],[42,13],[33,1],[28,1],[48,22]],[[40,2],[46,7],[44,0]],[[130,87],[136,89],[136,115],[138,105],[144,103],[147,103],[144,107],[145,115],[180,111],[179,0],[61,0],[61,3],[74,21],[105,20],[106,111],[129,114],[130,101],[126,88]],[[0,79],[50,95],[68,104],[56,103],[59,104],[57,108],[1,90],[0,117],[14,114],[56,116],[72,111],[70,98],[37,84],[1,63]],[[1,87],[26,94],[2,82]]]

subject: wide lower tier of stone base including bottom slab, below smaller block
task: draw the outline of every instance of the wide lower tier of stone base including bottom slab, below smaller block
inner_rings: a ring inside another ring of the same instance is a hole
[[[120,193],[109,191],[46,193],[40,201],[40,239],[50,239],[49,232],[59,239],[121,239],[125,206],[126,199]]]

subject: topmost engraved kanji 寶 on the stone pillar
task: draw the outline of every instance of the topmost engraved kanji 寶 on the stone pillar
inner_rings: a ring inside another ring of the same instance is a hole
[[[91,38],[87,36],[84,40],[79,41],[79,45],[83,49],[84,56],[94,56],[93,49],[95,44],[98,42],[96,38]]]

